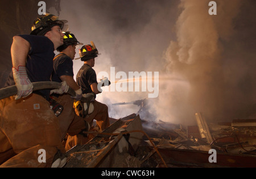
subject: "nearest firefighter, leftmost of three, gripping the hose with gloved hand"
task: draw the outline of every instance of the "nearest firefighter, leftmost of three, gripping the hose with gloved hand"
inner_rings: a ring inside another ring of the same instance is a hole
[[[55,49],[63,45],[67,20],[46,14],[34,21],[30,35],[17,35],[11,45],[13,73],[6,86],[15,85],[18,93],[0,101],[0,156],[1,167],[51,167],[65,163],[57,158],[64,153],[57,117],[50,109],[50,90],[32,92],[32,82],[50,81]],[[61,84],[59,93],[68,86]]]

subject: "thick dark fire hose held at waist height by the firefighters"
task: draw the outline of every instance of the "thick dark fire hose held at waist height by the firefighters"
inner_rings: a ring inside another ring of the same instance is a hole
[[[42,81],[42,82],[32,82],[33,91],[44,90],[44,89],[59,89],[61,83],[54,81]],[[11,97],[12,95],[17,94],[16,86],[9,86],[6,88],[0,89],[0,99]],[[68,94],[75,96],[76,93],[73,89],[68,89]]]

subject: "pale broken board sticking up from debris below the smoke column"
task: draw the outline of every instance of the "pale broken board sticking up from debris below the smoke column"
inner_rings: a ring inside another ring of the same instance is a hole
[[[195,116],[196,116],[196,123],[197,123],[197,126],[199,127],[201,138],[206,138],[209,144],[212,143],[213,139],[212,139],[212,136],[210,135],[207,122],[202,117],[201,113],[196,113]]]

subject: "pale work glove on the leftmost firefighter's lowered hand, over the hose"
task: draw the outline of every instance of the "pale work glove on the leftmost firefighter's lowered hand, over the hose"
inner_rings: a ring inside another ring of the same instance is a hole
[[[26,66],[18,66],[18,69],[13,67],[13,78],[17,88],[15,100],[25,98],[32,93],[33,85],[27,76]]]

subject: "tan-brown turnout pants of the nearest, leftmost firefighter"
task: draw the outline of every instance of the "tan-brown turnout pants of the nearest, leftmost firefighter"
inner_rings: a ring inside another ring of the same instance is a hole
[[[58,119],[42,96],[5,98],[0,100],[0,110],[0,156],[10,150],[16,154],[0,161],[4,162],[0,167],[49,167],[57,150],[65,152]],[[40,149],[46,163],[39,160]]]

